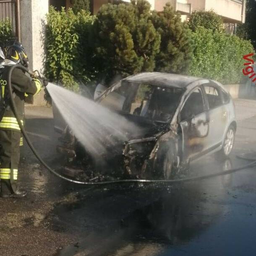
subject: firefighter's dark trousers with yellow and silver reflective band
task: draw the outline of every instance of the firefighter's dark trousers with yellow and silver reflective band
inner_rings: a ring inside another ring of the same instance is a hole
[[[20,140],[19,131],[0,130],[0,185],[4,194],[17,189]]]

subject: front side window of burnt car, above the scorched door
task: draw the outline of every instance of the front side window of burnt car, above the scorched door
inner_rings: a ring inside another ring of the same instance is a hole
[[[195,89],[186,100],[180,112],[180,119],[185,121],[202,112],[204,112],[203,95],[200,89]]]

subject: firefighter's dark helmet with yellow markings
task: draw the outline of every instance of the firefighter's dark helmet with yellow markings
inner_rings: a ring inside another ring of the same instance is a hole
[[[17,64],[24,65],[26,68],[29,66],[29,59],[22,44],[16,40],[10,40],[5,44],[5,57],[12,60]]]

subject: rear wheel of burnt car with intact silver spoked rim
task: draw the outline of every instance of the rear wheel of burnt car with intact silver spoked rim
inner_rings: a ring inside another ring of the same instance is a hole
[[[227,159],[230,153],[232,152],[234,144],[235,144],[235,127],[234,125],[230,125],[230,127],[227,129],[227,133],[225,135],[222,149],[217,152],[216,158],[221,160]]]

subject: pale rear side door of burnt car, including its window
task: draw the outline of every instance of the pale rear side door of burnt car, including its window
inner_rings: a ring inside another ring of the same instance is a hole
[[[211,148],[214,149],[222,144],[228,121],[228,112],[222,103],[222,94],[218,86],[206,84],[203,89],[206,95],[206,103],[209,107],[209,143]]]

